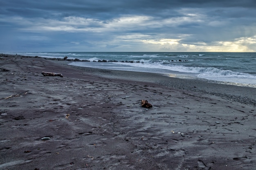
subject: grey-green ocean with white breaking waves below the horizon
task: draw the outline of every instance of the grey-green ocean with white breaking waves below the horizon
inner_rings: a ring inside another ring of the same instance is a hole
[[[171,77],[196,77],[256,87],[256,53],[33,52],[17,54],[54,58],[67,56],[68,59],[90,61],[70,63],[76,66],[162,73]],[[112,62],[98,62],[98,60]]]

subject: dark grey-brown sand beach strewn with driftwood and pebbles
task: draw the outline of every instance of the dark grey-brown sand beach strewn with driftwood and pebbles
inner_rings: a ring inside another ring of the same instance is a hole
[[[66,64],[0,55],[0,170],[255,169],[256,88]]]

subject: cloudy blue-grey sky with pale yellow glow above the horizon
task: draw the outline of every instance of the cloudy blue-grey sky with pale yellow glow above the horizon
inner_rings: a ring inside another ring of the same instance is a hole
[[[0,0],[0,52],[256,52],[256,0]]]

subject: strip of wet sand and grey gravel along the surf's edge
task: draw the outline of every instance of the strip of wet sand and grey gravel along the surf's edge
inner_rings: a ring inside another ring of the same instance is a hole
[[[9,55],[1,54],[7,56],[20,56],[20,57],[31,57],[33,56],[24,56],[24,55]],[[45,60],[50,60],[56,62],[57,64],[62,64],[70,66],[81,71],[88,71],[96,76],[102,76],[106,78],[114,79],[128,79],[132,81],[138,81],[142,79],[142,82],[151,82],[158,84],[160,86],[175,88],[179,90],[191,91],[201,94],[214,95],[222,97],[223,99],[230,100],[231,102],[240,102],[243,104],[249,104],[256,106],[256,91],[255,87],[238,85],[232,82],[220,82],[215,80],[203,79],[203,78],[180,78],[180,77],[170,77],[162,73],[146,73],[146,72],[135,72],[135,71],[121,71],[121,70],[109,70],[102,68],[92,68],[92,67],[83,67],[83,66],[74,66],[70,63],[74,61],[64,60],[62,58],[49,58],[49,57],[38,57]],[[79,61],[78,61],[79,62]],[[133,77],[129,76],[132,73]],[[120,75],[123,75],[121,77]],[[140,77],[135,77],[137,75],[143,75]],[[153,76],[153,78],[152,78]],[[149,78],[146,78],[149,77]],[[159,78],[160,77],[160,78]],[[155,80],[157,79],[157,80]]]

